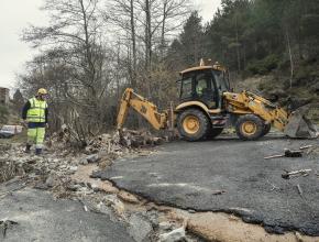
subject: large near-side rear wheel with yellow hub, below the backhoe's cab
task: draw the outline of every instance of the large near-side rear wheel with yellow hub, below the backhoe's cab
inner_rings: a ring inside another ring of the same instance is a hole
[[[202,140],[210,130],[210,122],[206,114],[198,109],[186,109],[177,119],[177,130],[187,141]]]

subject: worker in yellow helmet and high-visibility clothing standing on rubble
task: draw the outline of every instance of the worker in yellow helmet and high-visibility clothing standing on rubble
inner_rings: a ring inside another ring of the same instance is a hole
[[[46,89],[40,88],[36,96],[29,99],[23,107],[22,119],[28,127],[26,153],[30,153],[31,146],[35,144],[35,154],[42,154],[48,116],[46,99]]]

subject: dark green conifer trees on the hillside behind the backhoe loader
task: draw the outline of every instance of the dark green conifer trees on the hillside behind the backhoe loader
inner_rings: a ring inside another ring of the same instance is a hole
[[[186,58],[185,65],[193,64],[189,53],[196,42],[191,40],[202,38],[202,50],[197,55],[218,61],[231,70],[267,74],[280,67],[288,74],[289,58],[279,63],[278,56],[288,56],[290,51],[294,66],[298,66],[302,58],[319,54],[318,12],[318,0],[222,0],[221,8],[205,28],[191,14],[178,40],[185,47],[175,48],[175,54]]]

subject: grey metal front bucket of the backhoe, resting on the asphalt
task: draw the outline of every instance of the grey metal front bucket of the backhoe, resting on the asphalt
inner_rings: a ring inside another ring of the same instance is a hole
[[[315,139],[318,138],[317,128],[311,123],[309,119],[305,117],[305,113],[309,110],[308,106],[301,107],[294,111],[288,120],[284,133],[289,138],[300,139]]]

